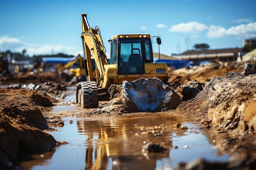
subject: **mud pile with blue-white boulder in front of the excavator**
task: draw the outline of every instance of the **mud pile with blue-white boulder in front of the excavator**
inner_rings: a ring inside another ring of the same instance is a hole
[[[103,113],[160,112],[175,109],[180,95],[158,78],[140,78],[124,81],[109,88],[110,102],[97,110]]]

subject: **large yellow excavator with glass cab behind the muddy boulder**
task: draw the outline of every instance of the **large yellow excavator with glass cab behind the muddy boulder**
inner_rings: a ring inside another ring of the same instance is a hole
[[[102,96],[108,94],[111,84],[122,84],[141,77],[157,77],[165,84],[168,81],[166,63],[153,63],[153,49],[149,34],[118,34],[109,42],[110,62],[101,39],[99,28],[88,24],[87,14],[82,13],[82,34],[86,82],[76,85],[76,104],[83,108],[99,106]],[[157,44],[161,39],[157,37]],[[96,64],[93,77],[92,57]]]

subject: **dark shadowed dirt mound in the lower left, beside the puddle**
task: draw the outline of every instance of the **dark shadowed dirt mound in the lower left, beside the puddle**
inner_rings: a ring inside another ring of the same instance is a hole
[[[0,114],[0,168],[3,165],[12,167],[17,160],[47,152],[57,145],[58,142],[48,133],[23,124],[20,118]]]

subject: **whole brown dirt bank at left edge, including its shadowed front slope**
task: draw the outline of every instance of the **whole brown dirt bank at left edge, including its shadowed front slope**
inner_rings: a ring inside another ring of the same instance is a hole
[[[9,94],[7,94],[9,92]],[[58,142],[43,132],[49,128],[34,99],[17,93],[35,92],[18,89],[2,90],[0,93],[0,166],[11,167],[17,159],[29,154],[47,152],[58,145]],[[16,93],[16,94],[10,94]],[[39,97],[43,99],[43,97]],[[45,99],[49,105],[49,100]],[[38,102],[44,104],[44,102]]]

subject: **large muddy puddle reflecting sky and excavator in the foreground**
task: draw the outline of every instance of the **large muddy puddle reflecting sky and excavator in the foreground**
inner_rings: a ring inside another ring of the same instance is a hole
[[[68,144],[20,163],[22,170],[170,170],[198,158],[229,159],[214,149],[204,135],[210,134],[208,130],[162,113],[63,121],[63,127],[49,133]],[[147,144],[159,143],[167,150],[144,152]]]

